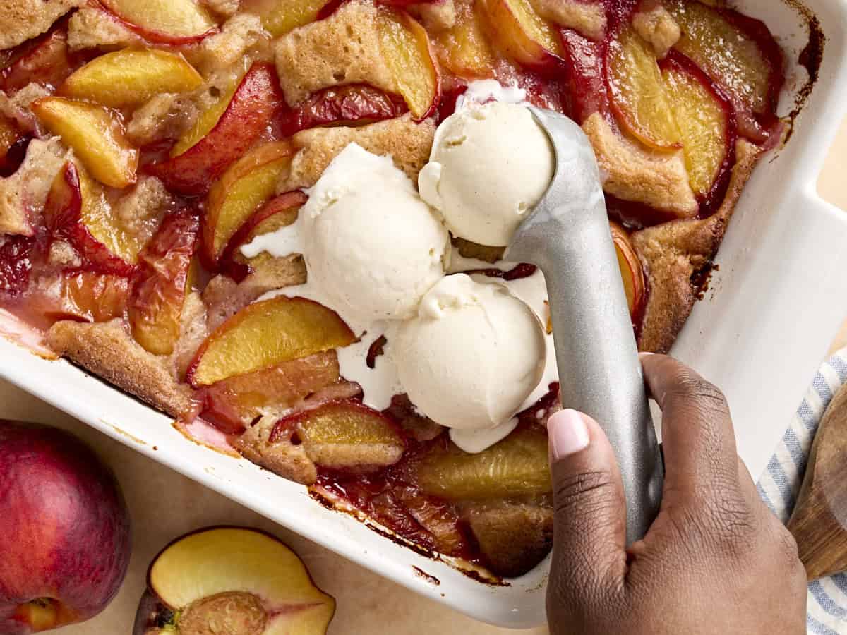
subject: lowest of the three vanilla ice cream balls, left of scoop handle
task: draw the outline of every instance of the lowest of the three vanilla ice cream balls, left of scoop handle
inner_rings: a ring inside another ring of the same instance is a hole
[[[496,428],[541,380],[544,332],[506,287],[459,273],[424,295],[389,354],[418,409],[443,426]]]

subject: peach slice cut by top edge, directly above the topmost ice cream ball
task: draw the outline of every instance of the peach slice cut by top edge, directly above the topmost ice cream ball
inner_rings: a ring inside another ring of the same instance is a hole
[[[500,47],[529,69],[551,70],[562,57],[559,30],[542,18],[530,0],[481,0]]]

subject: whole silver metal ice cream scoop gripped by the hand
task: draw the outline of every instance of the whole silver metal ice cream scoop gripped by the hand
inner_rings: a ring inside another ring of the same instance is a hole
[[[556,172],[506,259],[531,262],[545,274],[562,405],[594,417],[612,442],[631,544],[656,517],[663,468],[600,171],[579,125],[559,113],[529,110],[550,136]]]

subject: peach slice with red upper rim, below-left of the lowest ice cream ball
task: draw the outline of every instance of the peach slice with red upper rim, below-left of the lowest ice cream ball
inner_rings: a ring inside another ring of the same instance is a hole
[[[299,439],[315,464],[368,471],[394,465],[406,443],[396,424],[357,400],[331,401],[276,424],[271,441]]]

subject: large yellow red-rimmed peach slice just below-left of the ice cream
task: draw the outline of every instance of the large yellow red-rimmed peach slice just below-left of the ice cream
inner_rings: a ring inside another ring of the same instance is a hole
[[[252,373],[352,344],[352,330],[326,306],[284,295],[235,313],[203,343],[187,373],[194,386]]]

